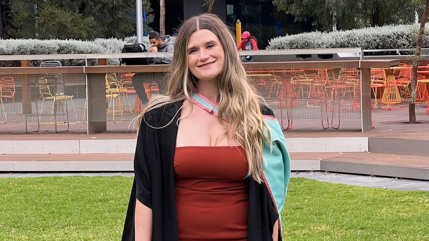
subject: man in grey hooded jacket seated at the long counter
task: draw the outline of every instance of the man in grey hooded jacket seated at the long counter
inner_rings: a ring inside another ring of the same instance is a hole
[[[152,31],[149,34],[149,42],[152,46],[147,50],[148,53],[162,53],[162,52],[173,52],[174,46],[170,35],[160,35],[156,31]],[[173,57],[156,57],[153,58],[155,64],[171,64]],[[159,92],[162,94],[166,89],[166,82],[164,81],[164,73],[149,73],[148,74],[136,73],[132,78],[132,84],[141,102],[145,104],[148,101],[146,92],[144,91],[143,82],[156,81],[158,83]]]

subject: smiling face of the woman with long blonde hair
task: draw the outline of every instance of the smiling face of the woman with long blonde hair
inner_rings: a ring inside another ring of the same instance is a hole
[[[201,29],[192,33],[187,51],[189,70],[199,82],[217,80],[224,68],[225,53],[212,31]]]

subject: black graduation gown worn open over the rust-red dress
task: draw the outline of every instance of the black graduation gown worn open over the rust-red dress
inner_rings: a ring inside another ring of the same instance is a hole
[[[141,121],[134,156],[135,177],[122,241],[134,241],[136,198],[152,209],[152,241],[179,241],[173,159],[178,130],[177,121],[180,117],[179,108],[182,104],[183,101],[179,101],[152,110],[145,114],[146,122]],[[262,108],[261,111],[263,115],[273,115],[270,109]],[[171,121],[172,119],[174,120]],[[272,241],[273,226],[279,215],[268,188],[264,183],[259,184],[251,178],[247,178],[247,183],[249,189],[247,239],[248,241]],[[281,234],[279,234],[279,241],[281,241]]]

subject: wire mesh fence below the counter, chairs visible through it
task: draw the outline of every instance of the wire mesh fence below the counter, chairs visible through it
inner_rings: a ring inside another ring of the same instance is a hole
[[[361,118],[357,69],[249,70],[247,76],[280,120]],[[1,85],[1,123],[69,126],[88,121],[132,121],[153,95],[167,89],[165,72],[105,73],[92,79],[87,74],[0,78],[8,81],[8,85]],[[91,81],[98,84],[91,85]],[[93,89],[89,92],[90,85]],[[89,111],[88,104],[93,101],[98,105]]]

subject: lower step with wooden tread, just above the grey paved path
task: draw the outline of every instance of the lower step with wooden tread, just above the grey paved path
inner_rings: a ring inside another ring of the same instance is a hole
[[[372,152],[290,153],[292,170],[429,180],[427,156]],[[134,154],[4,154],[3,172],[133,171]]]

